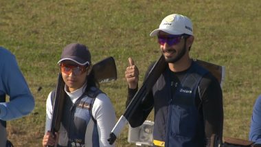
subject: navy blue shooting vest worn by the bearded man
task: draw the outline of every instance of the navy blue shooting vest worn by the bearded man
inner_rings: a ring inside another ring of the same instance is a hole
[[[205,146],[203,116],[195,104],[196,90],[209,71],[192,62],[183,80],[166,69],[152,88],[155,103],[155,146]]]

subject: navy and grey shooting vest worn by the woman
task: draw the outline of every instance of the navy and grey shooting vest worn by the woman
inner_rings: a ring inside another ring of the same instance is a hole
[[[75,104],[67,95],[60,124],[58,146],[100,146],[97,122],[92,115],[92,106],[100,89],[91,87],[83,93]],[[52,91],[52,102],[54,91]],[[88,144],[88,145],[87,145]]]

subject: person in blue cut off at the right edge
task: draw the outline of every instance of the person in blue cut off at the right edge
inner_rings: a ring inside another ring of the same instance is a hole
[[[253,106],[249,140],[256,142],[255,144],[261,144],[261,95]]]

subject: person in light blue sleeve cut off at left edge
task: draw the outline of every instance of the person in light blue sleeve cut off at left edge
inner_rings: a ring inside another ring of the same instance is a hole
[[[9,95],[9,102],[5,102],[5,95]],[[6,144],[5,121],[27,115],[33,109],[34,98],[15,56],[0,47],[0,146],[9,146]]]

